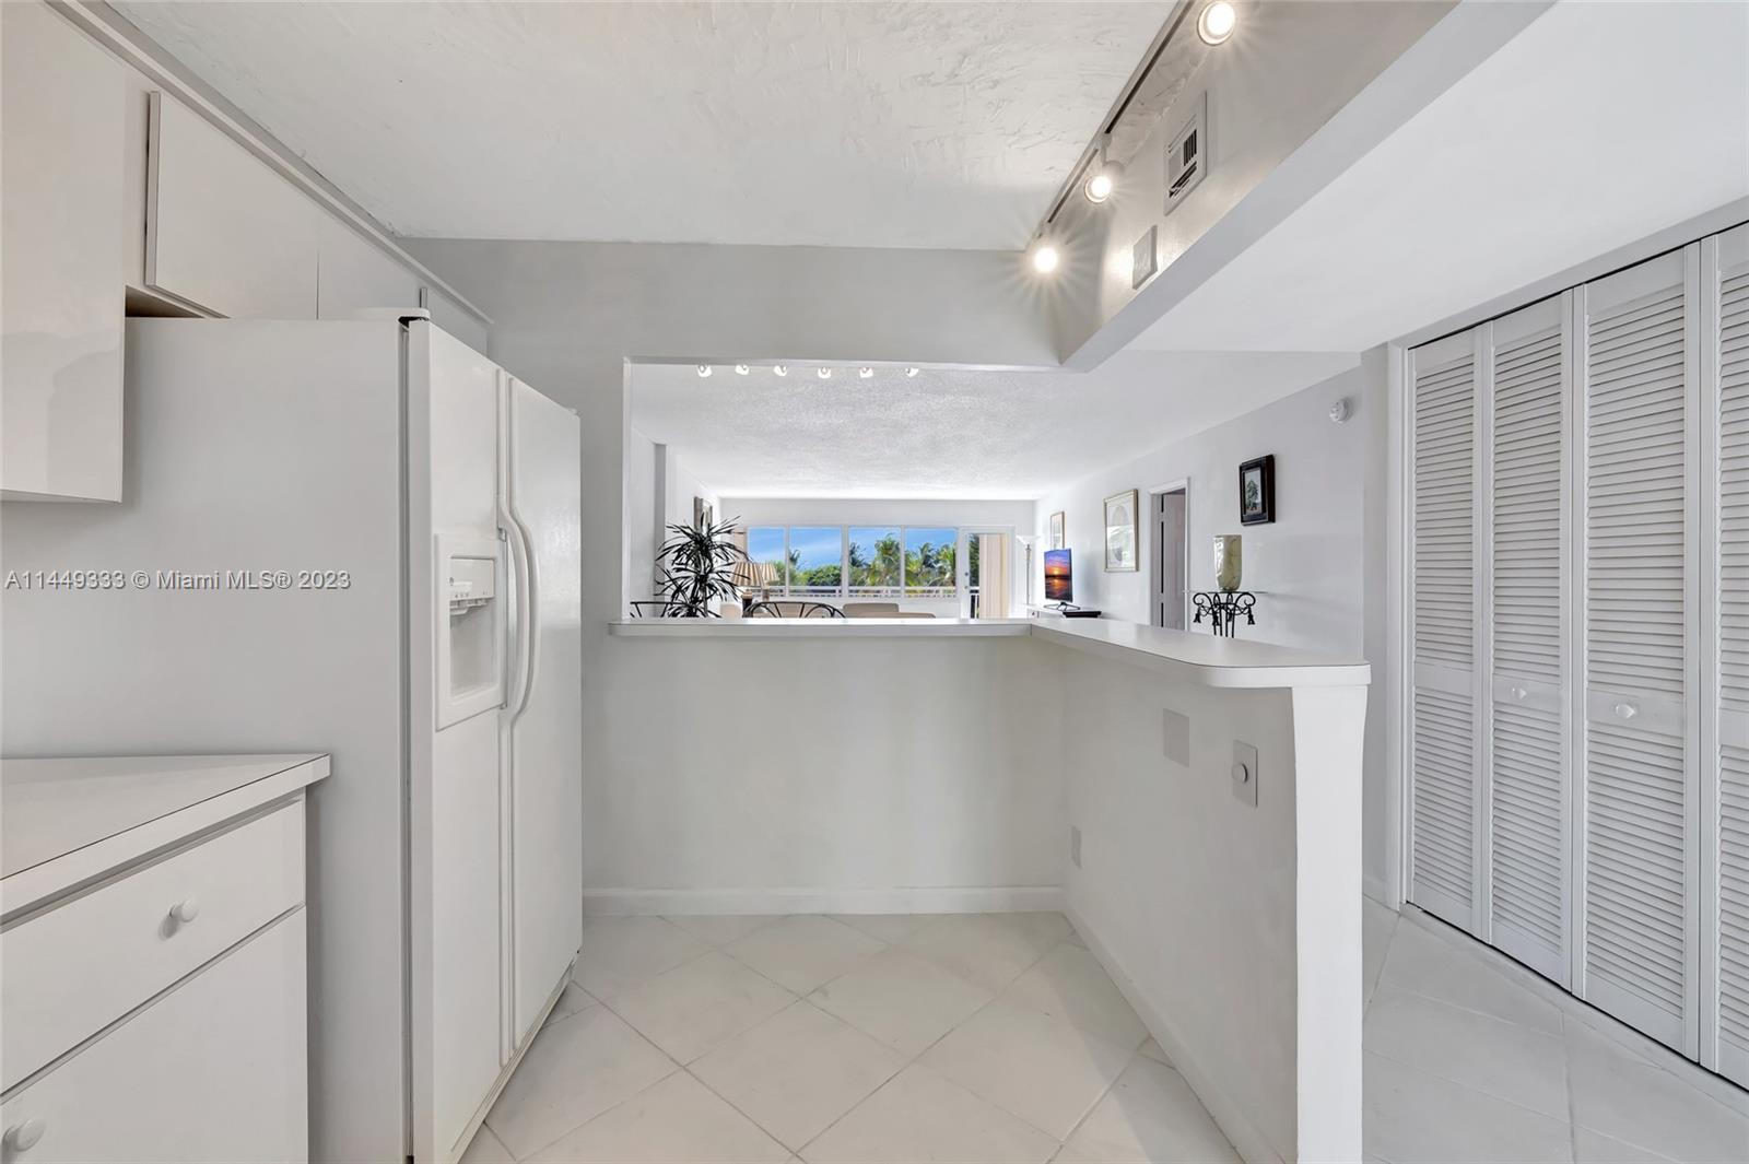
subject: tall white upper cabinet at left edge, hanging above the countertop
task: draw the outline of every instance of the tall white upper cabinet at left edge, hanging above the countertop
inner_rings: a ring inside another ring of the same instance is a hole
[[[0,488],[119,502],[124,72],[37,3],[0,42]]]

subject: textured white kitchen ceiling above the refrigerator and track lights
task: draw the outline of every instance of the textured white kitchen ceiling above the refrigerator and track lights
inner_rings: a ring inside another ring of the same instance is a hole
[[[1007,250],[1172,5],[115,7],[399,234]]]

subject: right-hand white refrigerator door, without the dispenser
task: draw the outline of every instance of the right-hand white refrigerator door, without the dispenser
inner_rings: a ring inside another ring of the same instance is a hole
[[[525,551],[525,671],[511,757],[511,1042],[521,1045],[582,942],[582,530],[577,418],[505,378],[507,510]]]

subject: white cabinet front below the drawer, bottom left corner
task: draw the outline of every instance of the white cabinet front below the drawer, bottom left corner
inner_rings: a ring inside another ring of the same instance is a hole
[[[299,909],[9,1096],[5,1159],[304,1161],[304,1024]]]

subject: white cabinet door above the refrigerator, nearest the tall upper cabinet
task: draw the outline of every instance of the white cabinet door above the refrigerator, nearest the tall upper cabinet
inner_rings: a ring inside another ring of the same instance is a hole
[[[145,281],[234,318],[317,318],[324,211],[168,94],[154,94]]]

